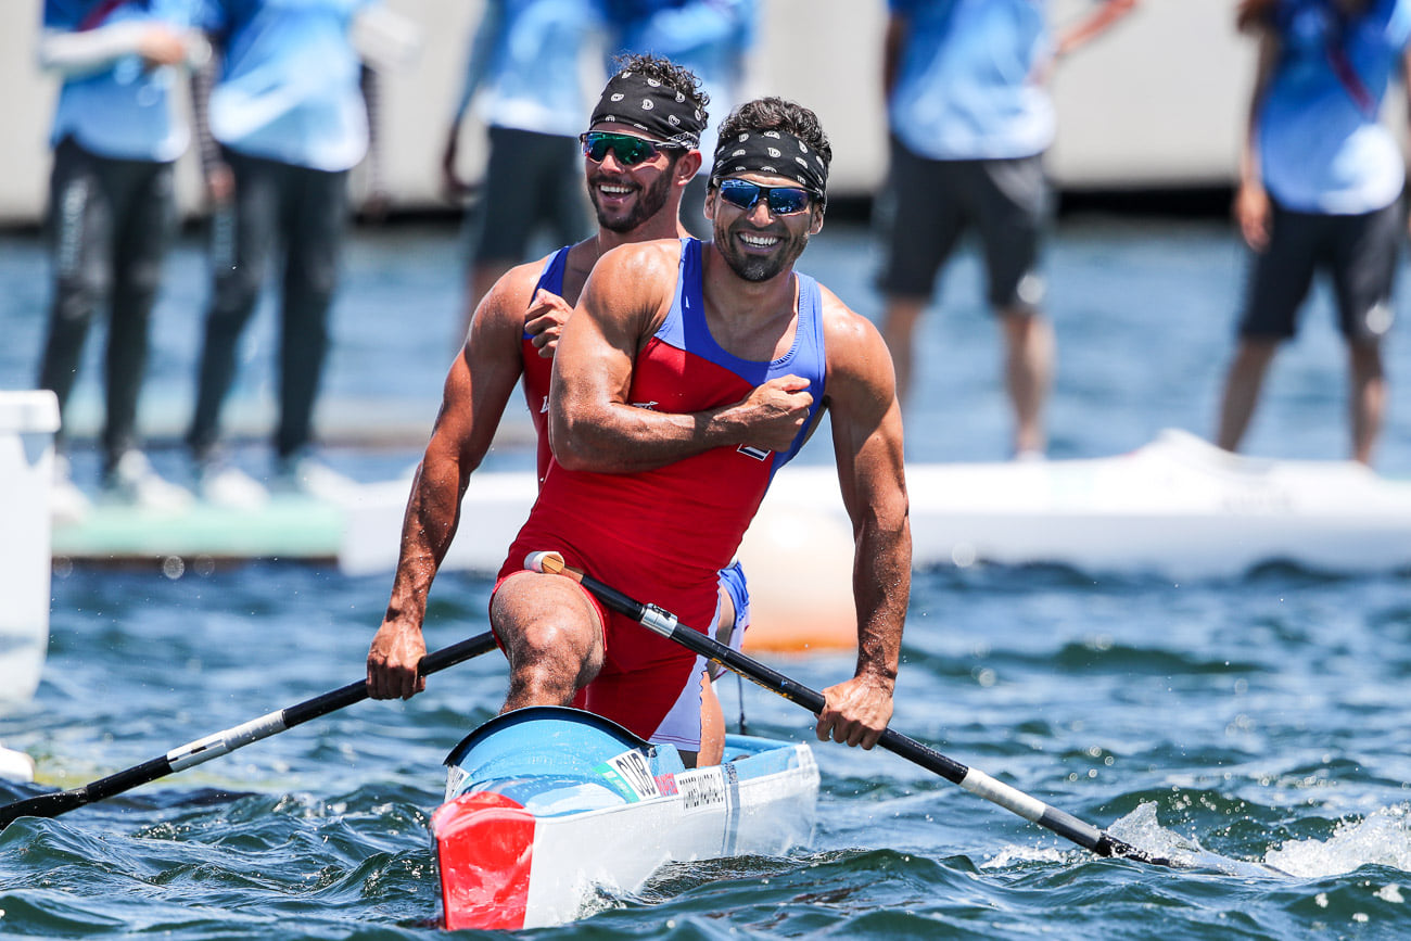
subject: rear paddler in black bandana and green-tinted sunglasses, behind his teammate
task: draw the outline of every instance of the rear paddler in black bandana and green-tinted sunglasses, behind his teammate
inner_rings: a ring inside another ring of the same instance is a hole
[[[598,233],[505,274],[476,310],[446,378],[444,401],[412,484],[391,601],[368,652],[377,698],[411,697],[425,681],[422,621],[432,580],[459,523],[460,502],[499,425],[515,384],[539,435],[539,480],[549,468],[552,357],[594,262],[626,243],[677,238],[682,193],[700,168],[707,99],[694,75],[656,56],[622,61],[583,134],[584,176]],[[722,621],[738,646],[748,593],[738,566],[720,573]],[[722,727],[718,704],[711,715]]]

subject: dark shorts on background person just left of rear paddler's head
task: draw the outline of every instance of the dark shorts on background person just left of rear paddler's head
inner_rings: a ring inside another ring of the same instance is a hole
[[[470,224],[471,258],[526,261],[529,240],[540,226],[550,229],[559,245],[590,231],[579,141],[491,127],[485,196]]]

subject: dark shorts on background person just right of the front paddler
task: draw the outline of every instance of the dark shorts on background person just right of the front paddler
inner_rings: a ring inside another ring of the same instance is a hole
[[[1038,247],[1048,224],[1041,155],[934,161],[895,137],[883,195],[886,261],[878,288],[895,298],[930,298],[935,275],[967,229],[985,254],[988,299],[996,310],[1033,310],[1043,300]]]

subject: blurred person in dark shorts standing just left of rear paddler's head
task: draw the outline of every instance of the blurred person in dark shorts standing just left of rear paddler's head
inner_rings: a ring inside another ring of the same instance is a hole
[[[490,155],[480,202],[467,216],[470,284],[464,330],[480,299],[528,261],[540,226],[556,244],[586,238],[593,227],[580,182],[579,131],[588,99],[584,51],[600,37],[595,0],[487,0],[470,44],[460,102],[442,157],[444,188],[473,188],[456,168],[460,126],[477,103]],[[456,346],[464,341],[464,333]]]

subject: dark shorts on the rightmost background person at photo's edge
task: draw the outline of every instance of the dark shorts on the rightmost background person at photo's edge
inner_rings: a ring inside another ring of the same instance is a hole
[[[1391,327],[1391,286],[1403,238],[1401,202],[1360,216],[1298,213],[1274,206],[1268,248],[1254,255],[1242,337],[1287,340],[1314,274],[1332,277],[1338,327],[1373,341]]]

